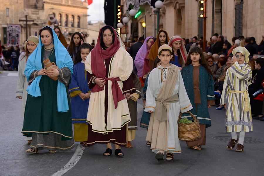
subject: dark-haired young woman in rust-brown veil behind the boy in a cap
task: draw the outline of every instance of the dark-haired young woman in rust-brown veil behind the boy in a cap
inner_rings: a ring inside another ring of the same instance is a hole
[[[161,45],[167,44],[169,42],[169,35],[167,33],[167,31],[165,30],[160,30],[158,32],[156,41],[154,42],[154,44],[152,45],[152,47],[150,48],[150,52],[148,54],[148,59],[149,59],[149,68],[150,71],[153,69],[153,63],[158,55],[158,49]]]

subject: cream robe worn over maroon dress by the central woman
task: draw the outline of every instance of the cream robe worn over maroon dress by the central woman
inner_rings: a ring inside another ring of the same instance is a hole
[[[85,70],[90,74],[91,68],[91,54],[87,56],[85,61]],[[114,57],[111,58],[109,66],[109,78],[119,77],[121,81],[118,81],[119,87],[122,91],[123,82],[131,75],[133,69],[133,59],[126,52],[125,49],[120,47]],[[112,82],[108,80],[108,112],[107,122],[105,122],[105,91],[92,92],[89,100],[87,122],[92,125],[92,131],[107,134],[113,132],[113,130],[121,130],[125,124],[131,121],[128,110],[127,100],[121,100],[117,104],[115,109],[114,99],[111,89]]]

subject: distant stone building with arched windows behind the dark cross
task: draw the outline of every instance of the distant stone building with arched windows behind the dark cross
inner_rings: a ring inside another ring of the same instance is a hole
[[[88,36],[87,30],[87,2],[82,0],[0,0],[0,40],[5,44],[5,30],[7,24],[20,24],[21,45],[26,40],[25,15],[28,20],[28,36],[38,35],[38,31],[47,25],[49,14],[54,14],[62,32],[68,32],[66,41],[74,32],[82,31]]]

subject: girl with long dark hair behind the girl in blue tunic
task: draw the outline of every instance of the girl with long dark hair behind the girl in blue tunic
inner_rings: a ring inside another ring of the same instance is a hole
[[[71,37],[70,45],[67,48],[67,51],[69,52],[73,61],[82,43],[83,43],[82,35],[79,32],[73,33]]]

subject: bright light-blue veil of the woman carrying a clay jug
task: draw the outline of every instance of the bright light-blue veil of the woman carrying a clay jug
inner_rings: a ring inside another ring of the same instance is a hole
[[[54,52],[55,52],[57,66],[59,67],[59,69],[63,67],[69,68],[72,74],[73,73],[72,58],[70,57],[70,54],[67,52],[66,48],[60,42],[57,34],[54,32],[53,29],[52,29],[52,34],[53,34],[53,42],[54,42],[54,49],[55,49]],[[27,64],[26,64],[26,69],[24,71],[24,74],[26,75],[28,79],[34,70],[42,69],[42,60],[41,60],[42,46],[43,44],[39,36],[38,46],[29,56]],[[31,85],[28,86],[27,88],[28,94],[32,95],[33,97],[41,96],[40,88],[39,88],[39,82],[40,82],[41,77],[42,75],[37,76],[32,81]],[[67,112],[69,110],[67,92],[65,89],[65,85],[60,81],[58,81],[58,86],[57,86],[57,100],[58,100],[57,101],[58,112]]]

